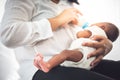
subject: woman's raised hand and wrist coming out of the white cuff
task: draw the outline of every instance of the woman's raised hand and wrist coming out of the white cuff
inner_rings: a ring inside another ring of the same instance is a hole
[[[78,15],[82,15],[82,13],[76,8],[68,8],[65,9],[62,13],[54,18],[49,18],[48,20],[51,23],[52,30],[56,30],[58,27],[64,26],[68,23],[77,24]]]

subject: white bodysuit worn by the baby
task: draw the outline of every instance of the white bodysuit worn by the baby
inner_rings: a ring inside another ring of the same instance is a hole
[[[69,28],[69,29],[72,29],[72,28]],[[88,27],[86,29],[92,32],[91,36],[101,35],[101,36],[107,37],[104,30],[102,30],[98,26],[92,26],[92,27]],[[76,33],[76,32],[78,32],[78,30],[82,30],[82,29],[80,27],[76,27],[73,30]],[[78,67],[78,68],[84,68],[84,69],[88,69],[88,70],[90,70],[92,68],[92,66],[90,66],[90,64],[95,59],[95,57],[87,59],[87,55],[89,53],[95,51],[95,49],[92,47],[82,46],[83,42],[95,42],[95,41],[91,40],[90,38],[79,38],[79,39],[74,40],[69,49],[70,50],[77,49],[77,50],[81,51],[83,54],[83,58],[79,62],[65,61],[64,63],[62,63],[62,66]]]

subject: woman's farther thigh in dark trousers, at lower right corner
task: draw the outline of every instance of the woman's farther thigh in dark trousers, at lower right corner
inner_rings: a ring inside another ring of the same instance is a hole
[[[92,71],[120,80],[120,61],[102,60]]]

